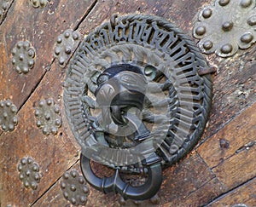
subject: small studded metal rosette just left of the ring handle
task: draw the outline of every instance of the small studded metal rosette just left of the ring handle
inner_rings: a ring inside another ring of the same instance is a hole
[[[61,190],[64,198],[75,206],[86,204],[90,193],[84,177],[79,175],[77,170],[71,170],[70,173],[66,172],[62,175]]]

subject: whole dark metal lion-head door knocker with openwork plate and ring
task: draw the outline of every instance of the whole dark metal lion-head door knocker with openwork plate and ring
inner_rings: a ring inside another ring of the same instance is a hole
[[[189,37],[155,16],[120,17],[85,37],[70,62],[64,103],[86,181],[125,199],[153,197],[162,169],[203,133],[210,71]],[[115,173],[97,176],[92,160]],[[144,181],[134,185],[129,175]]]

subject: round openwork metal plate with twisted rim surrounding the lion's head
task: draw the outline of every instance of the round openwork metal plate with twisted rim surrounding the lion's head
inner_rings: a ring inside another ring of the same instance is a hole
[[[141,122],[143,141],[108,135],[98,120],[96,78],[107,68],[129,64],[147,79]],[[111,167],[150,163],[173,164],[200,139],[212,101],[210,75],[203,55],[190,38],[170,22],[149,15],[127,15],[105,23],[79,45],[67,72],[64,103],[73,135],[84,156]],[[151,160],[154,162],[154,160]]]

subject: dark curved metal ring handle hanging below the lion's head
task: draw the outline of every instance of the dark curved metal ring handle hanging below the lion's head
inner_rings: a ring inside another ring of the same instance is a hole
[[[86,181],[91,186],[103,193],[119,193],[125,199],[145,200],[152,198],[160,189],[162,183],[161,164],[152,164],[148,166],[148,181],[140,187],[132,187],[125,183],[116,170],[111,177],[100,178],[91,170],[90,159],[81,154],[81,170]]]

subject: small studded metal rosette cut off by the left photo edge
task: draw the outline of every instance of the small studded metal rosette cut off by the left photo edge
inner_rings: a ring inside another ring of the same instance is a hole
[[[18,124],[17,107],[9,100],[0,101],[0,124],[4,131],[13,131]]]

